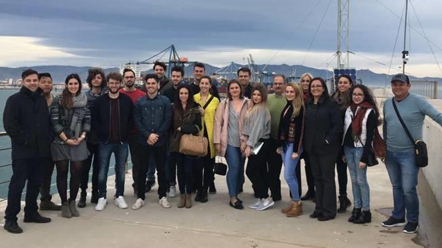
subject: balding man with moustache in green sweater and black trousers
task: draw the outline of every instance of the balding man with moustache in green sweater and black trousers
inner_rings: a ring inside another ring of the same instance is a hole
[[[271,127],[270,127],[270,154],[267,157],[267,170],[269,188],[272,194],[273,201],[281,200],[281,180],[279,175],[281,174],[282,158],[281,155],[276,152],[276,149],[280,146],[278,137],[279,118],[281,117],[282,109],[287,104],[285,99],[285,77],[284,75],[275,75],[273,77],[273,91],[275,93],[270,94],[267,97],[269,104]]]

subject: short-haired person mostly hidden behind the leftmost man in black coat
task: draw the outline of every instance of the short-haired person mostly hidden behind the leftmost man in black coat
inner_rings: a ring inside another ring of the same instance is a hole
[[[43,90],[43,96],[46,99],[48,107],[51,106],[54,96],[51,94],[52,91],[52,77],[49,73],[38,74],[38,87]],[[43,181],[40,187],[40,210],[61,210],[61,206],[55,204],[51,201],[52,195],[51,191],[51,179],[52,172],[54,171],[55,163],[52,161],[51,156],[49,156],[46,161],[44,161],[43,169]]]

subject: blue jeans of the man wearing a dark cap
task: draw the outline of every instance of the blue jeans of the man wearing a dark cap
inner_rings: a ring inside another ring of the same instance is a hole
[[[419,198],[417,197],[417,173],[413,151],[392,152],[387,150],[388,176],[393,185],[393,218],[402,219],[407,210],[408,222],[419,221]]]

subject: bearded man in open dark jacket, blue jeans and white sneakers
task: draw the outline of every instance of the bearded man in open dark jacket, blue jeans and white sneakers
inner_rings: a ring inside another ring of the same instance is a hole
[[[120,94],[123,77],[118,72],[107,75],[109,92],[99,97],[93,106],[92,126],[98,138],[98,203],[95,210],[104,210],[107,204],[107,171],[112,153],[115,156],[115,205],[127,208],[123,197],[125,184],[125,163],[128,158],[128,133],[132,129],[134,105],[130,97]]]

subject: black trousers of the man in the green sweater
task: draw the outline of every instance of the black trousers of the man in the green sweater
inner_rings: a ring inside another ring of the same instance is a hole
[[[279,146],[280,142],[278,140],[270,138],[268,148],[269,151],[267,153],[267,157],[264,158],[267,162],[267,181],[273,200],[281,200],[281,180],[279,177],[281,175],[282,157],[281,154],[276,152],[276,149]],[[298,172],[296,173],[299,175]]]

